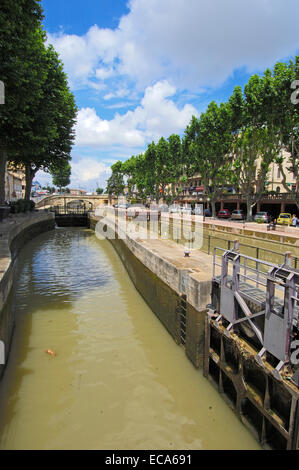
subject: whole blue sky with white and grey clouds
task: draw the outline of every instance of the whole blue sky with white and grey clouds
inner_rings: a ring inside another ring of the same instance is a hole
[[[72,187],[105,187],[110,166],[299,50],[297,0],[42,0],[79,107]],[[39,173],[37,179],[51,183]]]

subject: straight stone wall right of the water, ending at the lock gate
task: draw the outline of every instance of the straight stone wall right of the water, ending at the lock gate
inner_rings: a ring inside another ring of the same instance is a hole
[[[96,218],[91,218],[90,227],[95,229]],[[112,228],[111,228],[112,230]],[[186,268],[182,261],[161,254],[159,247],[151,247],[144,241],[128,234],[110,238],[116,252],[125,265],[135,287],[150,305],[153,312],[178,344],[183,344],[186,354],[195,367],[203,367],[204,329],[206,305],[211,299],[212,273],[198,273]],[[163,242],[157,241],[157,243]],[[171,250],[183,250],[170,242]],[[202,253],[203,257],[208,255]],[[208,257],[209,258],[209,257]],[[201,277],[201,279],[198,279]]]

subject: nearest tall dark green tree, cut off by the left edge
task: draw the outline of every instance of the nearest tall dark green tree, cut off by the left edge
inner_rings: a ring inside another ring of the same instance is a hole
[[[30,133],[28,110],[40,98],[44,80],[36,59],[41,56],[42,9],[39,0],[1,0],[0,79],[5,105],[0,106],[0,204],[5,199],[5,168]]]

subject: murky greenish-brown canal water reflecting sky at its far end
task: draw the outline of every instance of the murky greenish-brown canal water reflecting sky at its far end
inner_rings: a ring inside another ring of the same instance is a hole
[[[260,448],[92,231],[28,243],[12,304],[1,449]]]

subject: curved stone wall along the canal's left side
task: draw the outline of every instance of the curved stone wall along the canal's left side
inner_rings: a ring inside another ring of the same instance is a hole
[[[4,369],[2,362],[7,362],[15,321],[13,309],[5,309],[4,306],[13,288],[16,257],[27,241],[54,228],[54,214],[48,212],[17,214],[0,223],[0,379]],[[3,345],[5,361],[2,358]]]

